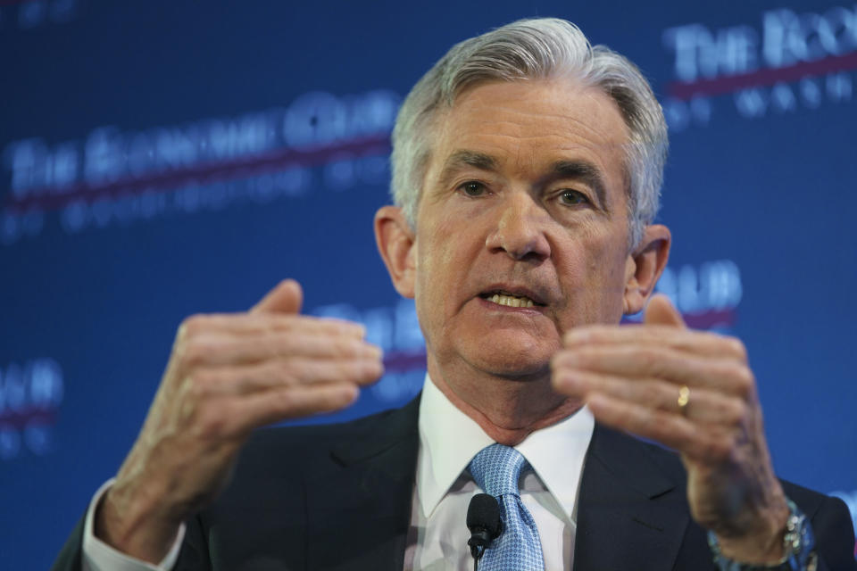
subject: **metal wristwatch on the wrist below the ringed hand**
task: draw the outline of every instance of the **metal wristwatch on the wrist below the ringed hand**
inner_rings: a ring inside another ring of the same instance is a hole
[[[741,563],[728,559],[720,552],[720,543],[714,532],[708,532],[708,544],[714,554],[714,564],[720,571],[815,571],[819,564],[812,527],[795,502],[786,499],[788,521],[783,538],[783,559],[769,565]]]

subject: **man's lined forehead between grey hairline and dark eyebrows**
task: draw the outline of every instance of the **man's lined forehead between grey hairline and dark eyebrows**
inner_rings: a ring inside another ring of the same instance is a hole
[[[628,128],[612,99],[573,79],[490,82],[459,95],[438,117],[430,173],[462,151],[528,175],[557,161],[587,161],[624,188]]]

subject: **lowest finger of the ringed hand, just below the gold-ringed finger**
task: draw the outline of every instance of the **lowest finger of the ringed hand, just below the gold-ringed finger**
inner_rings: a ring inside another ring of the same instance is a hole
[[[661,443],[693,460],[726,461],[736,440],[733,431],[700,426],[688,418],[607,394],[592,394],[587,408],[606,426]]]

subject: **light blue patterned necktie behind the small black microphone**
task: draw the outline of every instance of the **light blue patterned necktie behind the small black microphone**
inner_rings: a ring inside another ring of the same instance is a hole
[[[529,466],[527,459],[503,444],[483,448],[470,461],[470,474],[500,502],[503,519],[503,534],[485,551],[479,571],[545,571],[536,522],[518,494],[518,478],[525,466]]]

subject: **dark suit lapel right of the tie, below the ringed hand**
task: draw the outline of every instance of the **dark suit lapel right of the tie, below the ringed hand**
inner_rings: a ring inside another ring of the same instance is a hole
[[[576,571],[673,567],[690,518],[684,482],[645,444],[596,424],[579,498]]]

